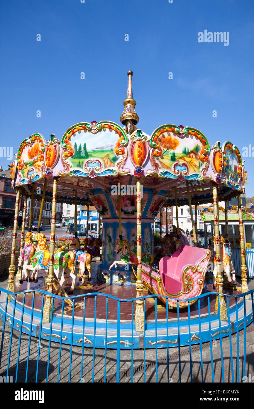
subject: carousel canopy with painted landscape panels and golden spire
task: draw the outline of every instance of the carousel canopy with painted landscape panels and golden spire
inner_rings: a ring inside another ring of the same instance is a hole
[[[51,134],[47,142],[34,133],[22,141],[15,155],[13,186],[22,187],[24,194],[34,188],[34,197],[40,197],[46,178],[45,197],[51,200],[53,177],[57,177],[58,201],[73,203],[76,189],[77,203],[93,203],[98,211],[108,195],[130,196],[128,187],[135,187],[137,178],[143,197],[155,197],[158,210],[165,198],[168,206],[175,204],[175,187],[178,205],[188,204],[186,181],[191,200],[197,204],[212,201],[213,183],[218,185],[219,200],[243,193],[246,171],[239,149],[231,142],[210,146],[203,133],[182,125],[161,125],[152,135],[136,127],[139,117],[132,75],[129,71],[120,117],[124,128],[111,121],[80,122],[68,128],[62,139]],[[98,193],[101,196],[96,201]],[[151,206],[146,209],[147,217],[154,213]],[[145,207],[144,199],[142,210]],[[108,211],[117,216],[116,208]]]

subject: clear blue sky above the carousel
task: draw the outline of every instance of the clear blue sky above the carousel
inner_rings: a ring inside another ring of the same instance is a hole
[[[181,124],[211,145],[254,147],[253,0],[9,0],[0,16],[0,145],[13,154],[35,132],[61,139],[77,122],[120,123],[128,70],[145,133]],[[229,31],[230,44],[198,43],[205,29]],[[254,158],[243,159],[253,196]]]

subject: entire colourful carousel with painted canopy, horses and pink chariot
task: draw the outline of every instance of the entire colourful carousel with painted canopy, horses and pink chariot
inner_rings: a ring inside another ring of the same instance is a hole
[[[14,295],[6,298],[1,293],[0,316],[8,315],[8,325],[31,336],[40,333],[41,338],[49,339],[51,331],[55,342],[84,342],[96,348],[105,344],[116,348],[120,336],[123,348],[144,344],[153,348],[155,343],[165,346],[165,337],[174,346],[188,345],[190,333],[193,342],[200,339],[194,337],[200,328],[203,342],[211,331],[213,339],[221,333],[227,336],[236,326],[238,329],[245,308],[252,321],[248,296],[245,306],[243,297],[238,299],[237,314],[234,299],[226,305],[223,297],[223,291],[248,291],[240,198],[246,171],[239,149],[229,141],[210,146],[199,130],[181,125],[165,124],[152,135],[144,133],[137,127],[132,76],[128,71],[122,126],[111,121],[80,122],[68,128],[62,139],[51,134],[47,141],[34,133],[23,140],[15,156],[12,178],[17,198],[7,290],[18,295],[14,300]],[[15,266],[20,197],[24,198],[24,213],[20,258]],[[41,200],[36,234],[31,233],[32,205],[25,232],[29,197],[32,203]],[[235,279],[227,236],[219,235],[219,202],[225,202],[227,209],[227,201],[233,197],[238,198],[241,284]],[[40,232],[44,200],[52,201],[49,242]],[[55,243],[57,202],[75,204],[75,236],[68,248]],[[202,248],[197,242],[192,205],[197,208],[206,203],[213,203],[214,236],[213,244]],[[86,237],[78,237],[77,205],[96,207],[99,225],[103,223],[102,236],[89,236],[87,211]],[[162,207],[175,206],[177,210],[182,205],[190,207],[194,246],[179,233],[178,220],[172,232],[167,225],[166,236],[160,235],[160,243],[154,246],[157,214]],[[101,261],[92,277],[91,261],[98,255]],[[205,279],[211,263],[213,281],[209,283]],[[221,294],[210,299],[209,313],[208,298],[201,303],[194,298],[204,292]],[[155,298],[145,300],[148,294]],[[123,308],[120,312],[119,299],[135,301],[128,311]]]

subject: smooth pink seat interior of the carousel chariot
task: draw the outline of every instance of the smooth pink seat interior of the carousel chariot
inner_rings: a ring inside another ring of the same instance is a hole
[[[180,245],[171,257],[161,258],[159,274],[164,288],[171,294],[178,294],[183,289],[183,271],[188,266],[197,266],[206,252],[207,249]]]

